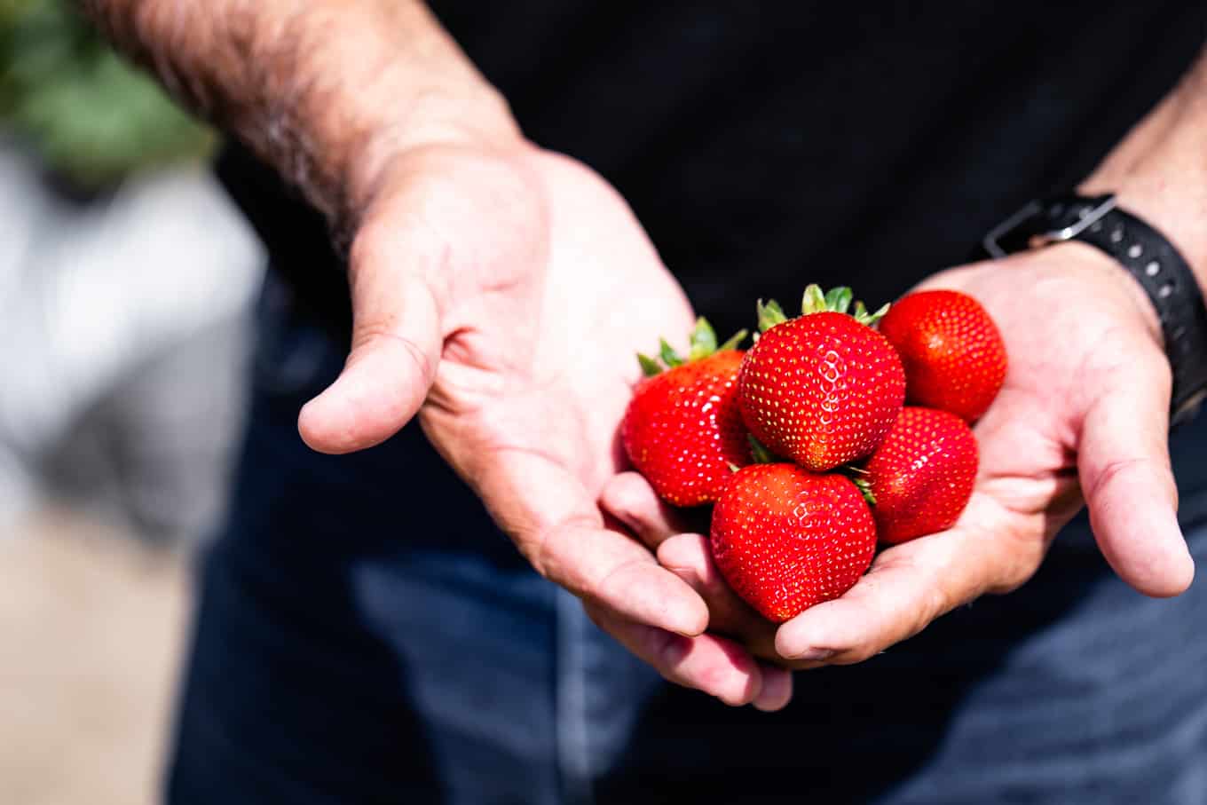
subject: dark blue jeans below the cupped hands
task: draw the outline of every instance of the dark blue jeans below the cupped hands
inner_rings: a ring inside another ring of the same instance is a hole
[[[205,558],[173,805],[1207,803],[1207,583],[1155,601],[1084,518],[1026,587],[783,712],[669,686],[537,578],[415,428],[320,456],[338,372],[264,333],[229,520]],[[1207,562],[1207,421],[1173,441]]]

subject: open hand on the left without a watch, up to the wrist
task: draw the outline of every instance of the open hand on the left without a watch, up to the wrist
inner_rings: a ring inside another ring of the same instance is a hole
[[[351,250],[352,351],[302,410],[303,438],[348,453],[418,413],[533,567],[600,626],[672,681],[736,669],[705,687],[757,700],[758,669],[699,637],[699,595],[596,504],[619,468],[635,352],[693,322],[628,206],[530,146],[416,150],[378,187]]]

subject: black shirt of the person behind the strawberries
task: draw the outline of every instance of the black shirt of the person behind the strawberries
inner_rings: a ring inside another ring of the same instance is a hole
[[[727,332],[810,281],[876,305],[966,262],[1084,177],[1207,39],[1207,4],[1168,0],[432,5],[525,133],[616,185]],[[302,305],[345,327],[315,212],[238,148],[220,173]]]

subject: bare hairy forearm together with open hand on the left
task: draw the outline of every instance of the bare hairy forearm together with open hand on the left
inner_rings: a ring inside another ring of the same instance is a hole
[[[694,322],[616,191],[527,142],[424,4],[84,7],[346,245],[352,350],[301,412],[311,448],[365,449],[418,416],[536,571],[666,678],[713,678],[709,692],[734,705],[782,699],[785,671],[693,640],[705,601],[597,504],[623,468],[634,354]]]

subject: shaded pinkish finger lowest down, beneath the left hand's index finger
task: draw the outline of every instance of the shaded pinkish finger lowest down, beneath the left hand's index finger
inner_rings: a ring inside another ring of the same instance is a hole
[[[618,618],[588,606],[587,613],[604,631],[675,684],[701,690],[731,706],[758,700],[763,671],[737,643],[715,635],[684,637]],[[777,682],[782,687],[782,682]],[[772,692],[776,694],[777,692]],[[779,692],[782,696],[782,690]],[[771,704],[776,702],[772,696]]]

